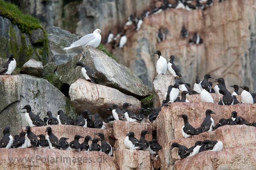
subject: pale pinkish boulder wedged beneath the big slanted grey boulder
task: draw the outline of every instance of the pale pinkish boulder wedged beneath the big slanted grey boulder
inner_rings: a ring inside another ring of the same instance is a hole
[[[111,115],[111,111],[106,111],[110,105],[117,104],[120,109],[125,102],[132,104],[128,109],[138,112],[141,107],[140,100],[123,94],[122,92],[95,84],[87,80],[78,79],[71,84],[69,88],[69,96],[76,113],[80,114],[83,109],[87,109],[91,113],[99,113],[101,117],[108,117]]]

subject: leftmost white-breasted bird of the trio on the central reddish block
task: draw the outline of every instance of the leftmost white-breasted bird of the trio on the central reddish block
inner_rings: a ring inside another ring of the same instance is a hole
[[[126,136],[127,137],[124,139],[126,149],[140,150],[142,148],[142,144],[134,137],[133,132],[129,132]]]

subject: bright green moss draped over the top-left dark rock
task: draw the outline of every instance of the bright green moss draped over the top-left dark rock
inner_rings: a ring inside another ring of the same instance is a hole
[[[34,29],[42,29],[45,37],[44,47],[48,50],[47,34],[37,18],[23,14],[18,6],[3,0],[0,0],[0,16],[11,20],[12,24],[18,25],[20,31],[24,33],[31,34]]]

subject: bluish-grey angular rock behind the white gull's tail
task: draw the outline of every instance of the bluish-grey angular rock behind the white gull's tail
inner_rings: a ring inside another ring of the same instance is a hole
[[[48,29],[48,43],[49,43],[49,61],[56,64],[63,64],[70,61],[75,55],[82,51],[70,51],[67,53],[63,48],[69,47],[70,44],[77,41],[79,37],[75,34],[65,31],[60,27],[50,27]]]

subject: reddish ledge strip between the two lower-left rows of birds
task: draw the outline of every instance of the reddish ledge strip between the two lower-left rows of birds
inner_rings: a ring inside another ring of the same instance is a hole
[[[99,137],[98,135],[94,135],[94,133],[100,133],[102,132],[105,136],[105,140],[107,143],[110,143],[110,145],[114,145],[114,131],[113,128],[110,129],[94,129],[89,127],[80,127],[80,126],[73,126],[73,125],[49,125],[49,126],[42,126],[42,127],[31,127],[31,131],[35,135],[44,134],[46,135],[47,132],[46,128],[51,127],[52,133],[60,139],[61,137],[68,138],[68,142],[71,142],[74,140],[75,135],[81,135],[83,137],[86,137],[87,135],[90,135],[92,139],[94,137]],[[22,131],[25,131],[26,128],[22,127]],[[83,142],[83,139],[79,140],[80,143]],[[91,141],[90,141],[91,143]]]

